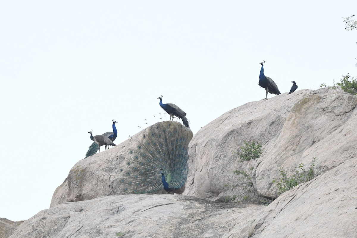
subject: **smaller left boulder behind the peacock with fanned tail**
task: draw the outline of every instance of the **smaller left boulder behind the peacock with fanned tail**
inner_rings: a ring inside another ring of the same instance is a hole
[[[143,136],[147,135],[148,132],[155,131],[157,125],[164,127],[167,133],[170,133],[173,127],[175,130],[180,130],[181,133],[184,133],[188,141],[185,143],[187,150],[188,143],[193,136],[190,129],[175,121],[156,123],[109,150],[96,153],[77,162],[70,170],[65,181],[57,187],[52,196],[50,207],[65,202],[126,194],[121,183],[124,174],[121,169],[126,167],[130,148],[136,147],[138,141],[143,142]],[[156,172],[158,171],[159,168],[157,168]],[[166,194],[164,190],[156,193]]]

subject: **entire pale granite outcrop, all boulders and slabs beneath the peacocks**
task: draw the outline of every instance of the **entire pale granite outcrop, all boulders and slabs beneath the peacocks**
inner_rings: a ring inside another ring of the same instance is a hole
[[[120,168],[133,145],[129,139],[76,163],[51,207],[10,237],[356,238],[356,105],[357,96],[322,88],[284,93],[223,114],[188,146],[183,195],[121,195]],[[238,161],[233,152],[243,140],[263,145],[257,161]],[[280,167],[292,172],[313,158],[317,177],[278,197],[272,181],[280,177]],[[251,166],[257,191],[277,198],[268,206],[218,202],[233,195],[225,186],[239,182],[233,171]]]

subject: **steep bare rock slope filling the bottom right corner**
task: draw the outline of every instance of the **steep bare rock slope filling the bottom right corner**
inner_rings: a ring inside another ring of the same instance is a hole
[[[357,237],[357,158],[283,193],[255,218],[255,236]]]

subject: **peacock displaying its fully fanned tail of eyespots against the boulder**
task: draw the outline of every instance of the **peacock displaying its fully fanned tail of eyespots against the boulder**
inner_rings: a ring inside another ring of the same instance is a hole
[[[142,194],[165,189],[182,194],[188,172],[188,143],[193,133],[180,122],[164,121],[147,127],[133,140],[120,169],[124,193]]]

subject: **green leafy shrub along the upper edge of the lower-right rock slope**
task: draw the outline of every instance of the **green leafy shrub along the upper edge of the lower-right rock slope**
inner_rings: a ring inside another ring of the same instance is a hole
[[[315,160],[316,158],[313,158],[310,163],[310,167],[307,170],[304,168],[303,163],[299,164],[299,166],[296,167],[295,172],[290,177],[286,175],[285,169],[281,167],[279,170],[281,177],[273,180],[273,183],[276,183],[279,189],[279,194],[289,191],[300,183],[305,183],[315,178]]]

